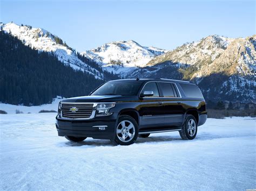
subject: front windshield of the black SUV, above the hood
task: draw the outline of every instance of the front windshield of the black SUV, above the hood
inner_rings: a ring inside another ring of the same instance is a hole
[[[91,95],[137,95],[142,82],[107,82],[95,90]]]

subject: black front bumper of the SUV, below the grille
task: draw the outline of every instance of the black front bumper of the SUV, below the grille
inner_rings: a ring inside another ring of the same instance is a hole
[[[87,120],[66,120],[56,117],[58,136],[92,137],[94,139],[113,139],[117,123],[117,113],[110,116],[94,117]],[[105,126],[100,130],[99,126]]]

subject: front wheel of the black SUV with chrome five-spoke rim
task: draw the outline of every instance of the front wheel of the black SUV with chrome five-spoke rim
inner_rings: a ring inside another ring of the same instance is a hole
[[[135,119],[122,115],[118,118],[113,142],[118,145],[131,145],[136,142],[138,131],[138,124]]]

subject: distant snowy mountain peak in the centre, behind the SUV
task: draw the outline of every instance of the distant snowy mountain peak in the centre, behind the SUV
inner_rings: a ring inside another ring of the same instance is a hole
[[[166,52],[165,49],[145,47],[129,40],[107,43],[81,54],[113,73],[122,73],[134,67],[144,67],[151,59]]]

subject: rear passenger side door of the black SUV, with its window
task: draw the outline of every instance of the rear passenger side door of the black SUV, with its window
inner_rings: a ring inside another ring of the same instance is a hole
[[[181,96],[175,83],[158,82],[160,96],[164,103],[165,125],[180,127],[183,123],[184,108]]]

